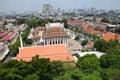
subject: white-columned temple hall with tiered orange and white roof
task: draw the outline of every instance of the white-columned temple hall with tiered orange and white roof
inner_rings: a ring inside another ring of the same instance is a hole
[[[45,32],[43,33],[44,45],[66,44],[68,45],[68,34],[64,30],[63,23],[48,23],[46,24]]]

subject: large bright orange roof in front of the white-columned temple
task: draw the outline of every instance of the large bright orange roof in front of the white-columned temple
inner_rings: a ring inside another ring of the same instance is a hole
[[[37,46],[19,49],[19,54],[16,56],[17,60],[31,61],[32,57],[39,55],[41,58],[49,58],[50,61],[59,60],[59,61],[74,61],[72,55],[67,51],[66,46],[63,44],[60,45],[51,45],[51,46]]]

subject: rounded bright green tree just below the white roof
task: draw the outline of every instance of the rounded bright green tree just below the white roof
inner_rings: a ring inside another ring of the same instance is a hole
[[[77,67],[86,74],[89,74],[100,69],[100,62],[96,55],[88,54],[78,60]]]

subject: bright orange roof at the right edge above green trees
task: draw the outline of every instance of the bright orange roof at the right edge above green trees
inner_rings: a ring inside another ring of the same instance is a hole
[[[119,39],[119,35],[118,34],[115,34],[115,33],[111,33],[111,32],[108,32],[106,34],[102,34],[102,38],[103,40],[105,41],[109,41],[111,39],[113,40],[118,40]]]

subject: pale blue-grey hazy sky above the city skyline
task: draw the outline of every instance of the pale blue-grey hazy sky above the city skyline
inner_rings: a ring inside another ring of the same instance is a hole
[[[0,12],[40,11],[43,4],[51,4],[55,9],[120,9],[120,0],[0,0]]]

